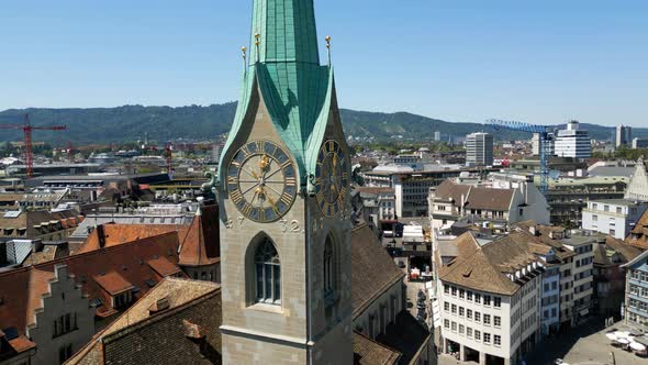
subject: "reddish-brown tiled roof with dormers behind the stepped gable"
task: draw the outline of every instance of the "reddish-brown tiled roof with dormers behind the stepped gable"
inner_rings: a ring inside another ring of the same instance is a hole
[[[55,266],[65,265],[74,275],[81,290],[97,305],[97,316],[109,317],[118,312],[112,307],[111,296],[129,287],[138,289],[134,298],[143,296],[164,276],[147,261],[164,258],[178,264],[178,236],[176,232],[134,241],[118,246],[71,255],[38,265],[0,273],[0,324],[15,327],[24,334],[33,323],[34,311],[41,309],[41,298],[49,290]]]

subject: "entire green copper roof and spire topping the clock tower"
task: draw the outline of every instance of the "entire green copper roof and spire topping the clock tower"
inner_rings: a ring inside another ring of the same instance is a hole
[[[310,156],[322,143],[333,93],[333,69],[320,65],[313,0],[255,0],[252,34],[250,65],[224,151],[238,134],[258,88],[303,176],[314,168]]]

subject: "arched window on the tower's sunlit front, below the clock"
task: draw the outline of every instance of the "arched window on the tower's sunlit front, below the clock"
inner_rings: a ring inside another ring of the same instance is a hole
[[[269,239],[255,253],[257,302],[281,303],[281,264],[277,248]]]

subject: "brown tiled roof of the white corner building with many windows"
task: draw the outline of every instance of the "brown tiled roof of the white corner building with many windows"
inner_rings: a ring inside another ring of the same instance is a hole
[[[466,232],[455,241],[457,257],[439,268],[439,278],[467,288],[513,295],[519,286],[505,274],[536,261],[527,242],[525,235],[513,233],[480,246],[472,232]]]

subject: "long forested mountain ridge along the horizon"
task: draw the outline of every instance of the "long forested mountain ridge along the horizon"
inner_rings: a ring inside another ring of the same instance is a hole
[[[10,109],[0,112],[0,124],[22,123],[23,115],[30,113],[34,125],[66,124],[65,132],[38,131],[34,141],[64,145],[126,142],[144,139],[168,141],[176,139],[209,140],[227,133],[236,102],[212,104],[209,107],[142,107],[124,106],[116,108],[89,109]],[[434,133],[465,136],[472,132],[490,132],[498,140],[529,139],[529,134],[513,131],[495,131],[490,125],[479,123],[453,123],[406,112],[380,113],[343,109],[342,120],[347,136],[370,137],[388,141],[394,136],[416,142],[433,141]],[[582,124],[590,135],[597,140],[610,140],[614,128]],[[634,129],[634,136],[648,137],[648,129]],[[0,130],[0,142],[20,141],[22,132]]]

